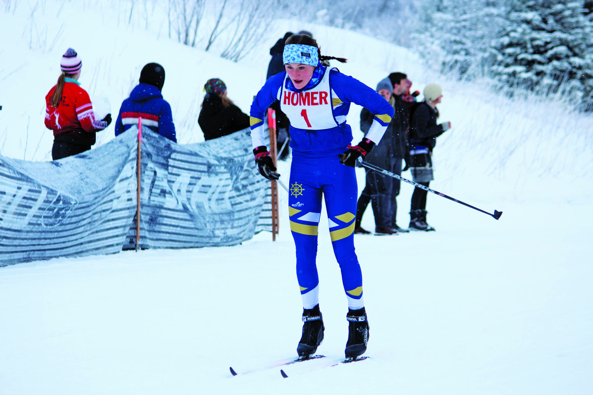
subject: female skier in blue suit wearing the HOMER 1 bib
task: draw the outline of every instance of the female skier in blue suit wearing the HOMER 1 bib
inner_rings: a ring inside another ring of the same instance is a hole
[[[278,179],[264,140],[264,111],[273,101],[290,122],[292,165],[288,200],[292,237],[297,250],[297,280],[301,289],[302,337],[299,358],[307,359],[323,341],[323,317],[319,310],[317,227],[321,196],[325,197],[331,243],[348,301],[346,358],[366,351],[369,326],[362,300],[362,272],[354,251],[356,175],[354,165],[377,144],[393,116],[393,108],[377,92],[321,61],[346,59],[321,56],[317,41],[304,35],[286,40],[283,62],[286,72],[270,77],[251,105],[251,139],[260,174]],[[346,123],[350,102],[375,115],[371,129],[351,146],[352,130]]]

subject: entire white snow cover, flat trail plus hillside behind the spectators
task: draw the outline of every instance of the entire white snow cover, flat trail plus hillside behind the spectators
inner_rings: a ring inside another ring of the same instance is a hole
[[[14,14],[0,11],[0,36],[9,37],[0,44],[2,155],[50,159],[43,98],[69,46],[82,57],[82,86],[109,98],[113,114],[145,63],[164,65],[163,94],[178,139],[187,143],[203,139],[196,121],[208,78],[222,78],[247,112],[264,82],[269,47],[286,30],[308,28],[323,53],[349,59],[339,65],[342,72],[369,86],[395,70],[408,72],[420,90],[441,84],[442,120],[451,120],[453,129],[439,137],[431,187],[503,216],[496,221],[431,194],[429,223],[436,232],[357,235],[372,358],[319,370],[313,369],[323,359],[292,365],[285,368],[288,379],[279,368],[237,377],[228,370],[256,370],[295,356],[301,300],[286,210],[275,243],[260,233],[228,248],[2,268],[0,394],[593,391],[591,117],[449,81],[424,70],[405,49],[336,28],[282,21],[250,56],[232,63],[119,23],[108,7],[113,1],[62,9],[61,2],[42,3],[35,21],[47,26],[44,47],[30,45],[30,5],[21,3]],[[352,106],[355,140],[358,114]],[[113,138],[113,126],[102,133],[100,143]],[[285,181],[288,166],[279,166]],[[358,175],[362,186],[364,172]],[[403,184],[401,226],[411,194]],[[280,196],[285,207],[286,194]],[[373,227],[370,207],[363,226]],[[318,352],[333,361],[343,356],[347,306],[327,229],[320,227],[319,240],[326,339]]]

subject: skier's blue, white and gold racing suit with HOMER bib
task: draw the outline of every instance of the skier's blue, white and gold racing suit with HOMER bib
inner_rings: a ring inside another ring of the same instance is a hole
[[[315,258],[323,194],[348,305],[350,309],[361,309],[362,272],[354,249],[356,174],[354,168],[341,164],[337,155],[352,142],[352,129],[346,123],[351,102],[377,114],[366,135],[375,144],[380,142],[393,117],[393,107],[374,89],[337,69],[318,65],[313,78],[302,89],[296,89],[286,72],[282,72],[267,80],[251,104],[254,148],[266,145],[264,112],[276,100],[291,121],[288,210],[303,307],[311,309],[318,304]]]

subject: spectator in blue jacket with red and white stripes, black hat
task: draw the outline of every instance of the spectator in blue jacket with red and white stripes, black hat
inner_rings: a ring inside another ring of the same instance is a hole
[[[171,106],[161,94],[164,84],[165,69],[161,65],[148,63],[142,68],[140,84],[132,89],[130,97],[122,102],[119,109],[115,123],[116,136],[138,125],[138,118],[142,118],[142,126],[177,143]]]

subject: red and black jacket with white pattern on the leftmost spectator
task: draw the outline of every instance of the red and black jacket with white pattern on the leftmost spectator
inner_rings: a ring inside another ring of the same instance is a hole
[[[95,132],[107,127],[107,122],[95,120],[93,104],[87,91],[74,79],[66,78],[62,99],[53,107],[51,99],[56,86],[45,97],[45,126],[53,130],[56,142],[93,145]]]

